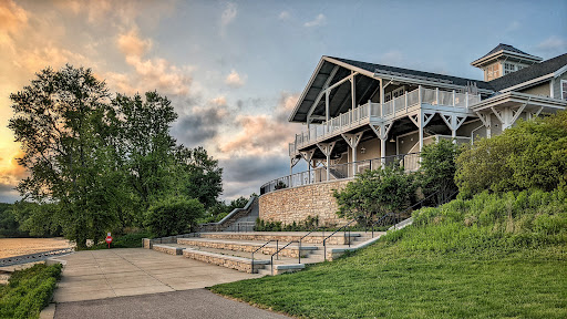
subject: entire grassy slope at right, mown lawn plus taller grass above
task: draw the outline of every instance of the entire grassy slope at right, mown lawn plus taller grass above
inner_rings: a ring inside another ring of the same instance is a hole
[[[483,196],[354,256],[212,290],[308,318],[567,318],[565,194]]]

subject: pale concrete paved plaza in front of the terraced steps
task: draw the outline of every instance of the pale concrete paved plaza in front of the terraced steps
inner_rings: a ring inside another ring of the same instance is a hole
[[[171,292],[261,277],[143,248],[78,251],[56,259],[66,261],[54,295],[58,303]]]

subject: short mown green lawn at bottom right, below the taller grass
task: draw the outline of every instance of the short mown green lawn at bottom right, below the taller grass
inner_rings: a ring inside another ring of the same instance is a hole
[[[213,291],[307,318],[567,318],[565,251],[477,258],[379,243],[306,271]]]

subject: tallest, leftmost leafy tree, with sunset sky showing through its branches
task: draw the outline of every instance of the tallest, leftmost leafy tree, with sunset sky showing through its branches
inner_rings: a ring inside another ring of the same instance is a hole
[[[39,203],[56,202],[64,212],[59,219],[63,233],[81,247],[115,220],[107,205],[101,205],[113,194],[105,192],[99,174],[105,166],[107,89],[90,69],[66,65],[37,73],[31,85],[10,99],[16,115],[9,127],[24,153],[18,163],[30,172],[18,191]]]

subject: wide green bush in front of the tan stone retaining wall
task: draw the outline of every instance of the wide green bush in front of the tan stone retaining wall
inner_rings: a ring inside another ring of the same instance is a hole
[[[342,191],[334,191],[339,217],[363,218],[371,222],[386,213],[401,213],[411,206],[416,185],[413,174],[402,167],[385,166],[365,171]]]

